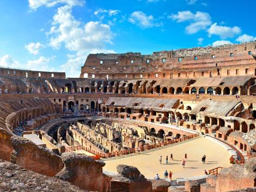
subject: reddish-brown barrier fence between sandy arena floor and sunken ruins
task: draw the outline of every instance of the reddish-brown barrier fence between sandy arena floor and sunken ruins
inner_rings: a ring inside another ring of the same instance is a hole
[[[200,135],[199,133],[196,133],[196,134],[188,135],[188,136],[185,136],[185,137],[182,137],[182,138],[179,138],[179,139],[164,141],[164,142],[161,142],[159,144],[145,145],[143,147],[131,148],[129,150],[122,150],[122,151],[116,151],[116,152],[111,152],[111,153],[100,153],[100,152],[97,152],[96,150],[92,150],[92,148],[84,147],[84,146],[81,146],[81,145],[66,148],[66,152],[74,152],[74,151],[78,151],[78,150],[84,150],[84,151],[87,151],[89,153],[95,154],[95,156],[93,156],[94,159],[96,159],[96,158],[99,159],[100,157],[101,158],[119,157],[119,156],[124,156],[126,154],[139,153],[139,152],[151,150],[153,148],[159,148],[159,147],[163,147],[163,146],[167,146],[167,145],[180,143],[182,141],[197,138],[197,137],[199,137],[199,135]]]

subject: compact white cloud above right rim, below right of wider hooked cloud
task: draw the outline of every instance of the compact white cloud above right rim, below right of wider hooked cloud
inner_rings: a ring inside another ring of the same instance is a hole
[[[219,35],[221,39],[233,38],[235,35],[240,33],[240,27],[218,26],[217,23],[212,24],[211,27],[208,29],[209,36]]]

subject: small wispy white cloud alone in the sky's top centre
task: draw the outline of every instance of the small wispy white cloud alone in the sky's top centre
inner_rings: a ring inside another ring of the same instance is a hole
[[[161,23],[156,23],[153,15],[146,15],[142,11],[134,11],[128,18],[128,21],[137,24],[141,28],[150,28],[154,26],[161,26]]]

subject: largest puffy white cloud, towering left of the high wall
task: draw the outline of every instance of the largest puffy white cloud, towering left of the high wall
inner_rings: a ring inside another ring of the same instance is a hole
[[[71,7],[58,8],[53,16],[50,46],[59,48],[62,44],[70,51],[89,52],[92,49],[105,49],[105,43],[112,44],[113,33],[107,24],[90,21],[82,25],[71,14]]]

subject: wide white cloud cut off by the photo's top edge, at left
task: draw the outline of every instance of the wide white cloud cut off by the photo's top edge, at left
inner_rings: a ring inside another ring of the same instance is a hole
[[[28,0],[31,9],[38,9],[39,7],[54,7],[57,4],[68,4],[70,6],[82,6],[86,1],[84,0]]]

